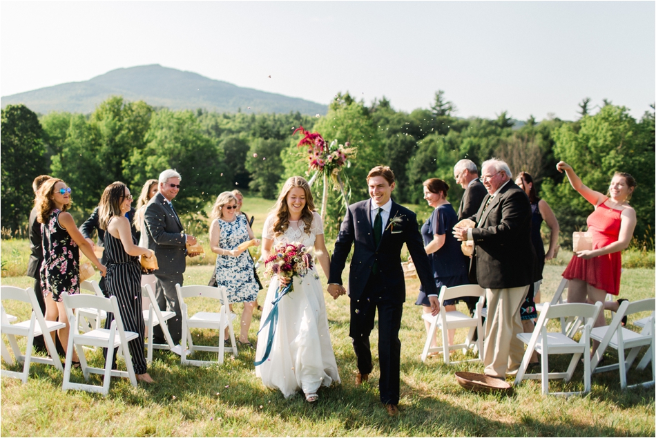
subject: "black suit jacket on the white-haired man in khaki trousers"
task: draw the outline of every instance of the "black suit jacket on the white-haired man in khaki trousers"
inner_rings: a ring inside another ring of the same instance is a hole
[[[521,287],[533,281],[535,251],[531,242],[531,204],[510,180],[485,209],[485,196],[472,229],[476,279],[481,287]]]

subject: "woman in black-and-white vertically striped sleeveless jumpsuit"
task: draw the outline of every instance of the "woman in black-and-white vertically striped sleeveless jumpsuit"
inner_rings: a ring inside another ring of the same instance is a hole
[[[145,327],[139,263],[139,256],[150,257],[151,251],[136,245],[137,239],[131,232],[130,221],[125,217],[131,209],[132,200],[130,190],[122,182],[109,184],[100,198],[98,217],[99,227],[105,231],[106,294],[117,298],[124,329],[139,334],[128,342],[137,380],[153,383],[144,356]],[[113,315],[108,314],[106,321],[112,319]],[[113,354],[116,355],[116,350]]]

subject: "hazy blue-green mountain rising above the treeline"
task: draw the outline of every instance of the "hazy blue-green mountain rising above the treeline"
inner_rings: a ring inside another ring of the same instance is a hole
[[[159,64],[117,68],[84,82],[69,82],[0,98],[2,108],[8,104],[25,104],[36,113],[69,111],[91,113],[110,95],[122,95],[134,102],[143,100],[152,106],[173,110],[203,108],[219,113],[242,111],[253,113],[300,112],[325,114],[326,105],[296,97],[242,88],[228,82],[209,79],[188,71]]]

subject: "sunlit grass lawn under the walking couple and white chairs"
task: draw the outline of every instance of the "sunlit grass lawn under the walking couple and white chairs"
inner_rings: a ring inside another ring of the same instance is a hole
[[[263,220],[262,220],[263,221]],[[257,222],[256,222],[257,223]],[[186,284],[206,284],[211,266],[189,267]],[[543,301],[556,289],[563,267],[547,266]],[[322,278],[325,283],[325,278]],[[27,277],[2,278],[3,285],[27,287]],[[480,363],[446,366],[441,359],[419,360],[425,329],[421,310],[414,305],[418,280],[408,280],[408,297],[401,325],[401,415],[387,417],[378,401],[378,336],[372,333],[374,373],[369,383],[356,388],[355,356],[348,337],[349,301],[325,294],[331,339],[341,384],[319,391],[309,405],[300,396],[284,399],[255,377],[254,354],[240,351],[226,356],[222,366],[180,366],[178,356],[155,350],[149,369],[157,383],[133,388],[126,379],[113,379],[110,394],[102,397],[78,391],[61,391],[62,376],[47,365],[32,365],[28,383],[1,381],[2,436],[654,436],[654,389],[621,392],[617,371],[595,374],[586,397],[543,397],[539,381],[525,381],[512,397],[479,395],[463,390],[454,379],[458,370],[483,372]],[[625,269],[621,296],[636,300],[654,296],[653,269]],[[264,292],[260,292],[260,302]],[[192,303],[202,307],[200,301]],[[237,312],[241,309],[235,306]],[[8,309],[27,316],[26,309]],[[607,314],[608,317],[610,315]],[[257,338],[260,313],[251,326]],[[216,343],[215,333],[195,333],[200,343]],[[463,334],[456,333],[464,337]],[[91,352],[100,365],[102,354]],[[199,354],[200,355],[200,354]],[[204,353],[209,359],[211,355]],[[612,359],[617,356],[611,355]],[[462,357],[454,353],[454,359]],[[550,359],[565,368],[567,357]],[[6,367],[6,364],[3,364]],[[119,362],[119,368],[122,363]],[[17,367],[14,367],[15,369]],[[582,370],[570,383],[552,381],[550,390],[582,389]],[[629,384],[650,378],[645,372],[629,373]],[[79,370],[76,381],[83,381]],[[99,383],[98,377],[91,377]]]

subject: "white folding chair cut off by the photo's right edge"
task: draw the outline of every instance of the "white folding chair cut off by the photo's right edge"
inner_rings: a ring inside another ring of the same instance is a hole
[[[604,327],[595,327],[590,333],[590,337],[599,341],[599,348],[592,358],[592,372],[605,372],[610,370],[617,370],[619,368],[619,385],[621,389],[636,388],[637,386],[652,386],[654,385],[654,376],[656,375],[654,348],[655,344],[655,330],[654,330],[654,312],[656,309],[656,298],[647,298],[646,300],[635,301],[629,303],[624,301],[619,306],[615,317],[610,321],[610,325]],[[635,314],[638,312],[649,312],[652,314],[648,318],[643,318],[641,323],[644,327],[640,333],[633,332],[626,327],[621,326],[621,319],[624,316]],[[646,321],[645,321],[646,320]],[[642,361],[639,363],[638,368],[644,369],[647,363],[651,362],[651,380],[643,383],[636,383],[635,385],[626,385],[626,373],[631,368],[633,361],[640,352],[641,347],[648,345],[647,350]],[[601,357],[604,355],[606,348],[611,347],[617,350],[619,360],[617,363],[610,365],[597,366]],[[628,356],[625,356],[624,350],[630,349]],[[642,368],[640,368],[642,366]]]

